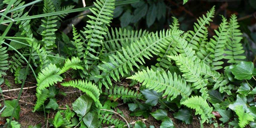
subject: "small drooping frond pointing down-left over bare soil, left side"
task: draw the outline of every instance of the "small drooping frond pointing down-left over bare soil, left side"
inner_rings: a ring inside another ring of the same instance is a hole
[[[42,89],[40,92],[36,93],[36,105],[34,106],[33,112],[40,108],[40,106],[45,102],[50,91],[48,89]]]

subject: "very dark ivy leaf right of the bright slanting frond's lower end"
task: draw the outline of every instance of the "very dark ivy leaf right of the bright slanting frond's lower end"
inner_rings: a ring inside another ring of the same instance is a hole
[[[225,95],[220,93],[217,90],[210,90],[208,91],[209,97],[211,98],[211,100],[209,100],[211,103],[221,103],[221,101],[223,101]]]

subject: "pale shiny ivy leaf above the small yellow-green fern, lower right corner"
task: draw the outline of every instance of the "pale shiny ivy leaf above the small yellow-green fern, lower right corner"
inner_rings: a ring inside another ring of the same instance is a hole
[[[243,106],[243,109],[246,109],[247,108],[246,103],[247,103],[246,96],[242,94],[237,94],[237,100],[234,103],[229,104],[228,107],[233,111],[235,110],[235,107],[237,105],[241,105]]]

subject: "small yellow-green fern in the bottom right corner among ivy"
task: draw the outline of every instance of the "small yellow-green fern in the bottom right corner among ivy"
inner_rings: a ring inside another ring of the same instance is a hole
[[[244,113],[244,109],[242,105],[237,105],[235,112],[238,116],[238,120],[239,120],[239,127],[243,128],[245,127],[247,124],[249,124],[249,121],[254,121],[254,117],[248,113]]]

